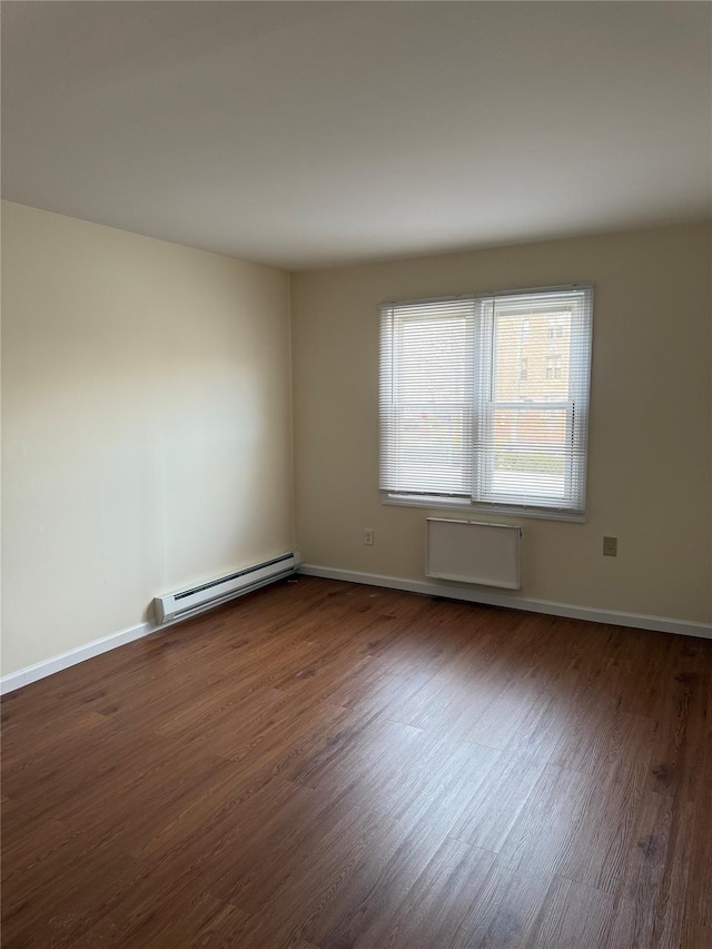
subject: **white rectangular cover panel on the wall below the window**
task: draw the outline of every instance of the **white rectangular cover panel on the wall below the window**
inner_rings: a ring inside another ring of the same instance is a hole
[[[426,576],[520,590],[522,528],[427,518]]]

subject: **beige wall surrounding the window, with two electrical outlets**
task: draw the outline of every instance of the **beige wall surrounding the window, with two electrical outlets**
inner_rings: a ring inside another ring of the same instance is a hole
[[[295,275],[305,562],[424,579],[431,512],[377,493],[382,300],[593,280],[587,522],[491,520],[524,525],[523,596],[709,622],[710,251],[710,229],[692,225]]]

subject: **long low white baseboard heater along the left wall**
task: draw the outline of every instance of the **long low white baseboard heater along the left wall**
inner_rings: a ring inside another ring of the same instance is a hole
[[[253,590],[275,583],[296,573],[301,557],[298,551],[275,557],[264,563],[247,566],[227,576],[210,580],[188,590],[168,593],[154,599],[156,622],[159,624],[184,620],[212,606],[219,606],[228,600],[244,596]]]

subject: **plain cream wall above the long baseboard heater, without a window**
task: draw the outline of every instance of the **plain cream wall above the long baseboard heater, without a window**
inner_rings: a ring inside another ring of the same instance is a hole
[[[2,206],[3,673],[293,547],[286,273]]]

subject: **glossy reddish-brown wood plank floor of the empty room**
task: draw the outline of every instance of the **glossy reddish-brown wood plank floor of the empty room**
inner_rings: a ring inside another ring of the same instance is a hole
[[[712,642],[301,577],[2,702],[2,947],[712,947]]]

